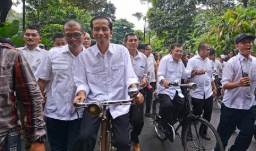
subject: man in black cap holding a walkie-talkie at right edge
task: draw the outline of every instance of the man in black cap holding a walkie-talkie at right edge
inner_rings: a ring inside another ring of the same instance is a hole
[[[225,94],[217,132],[224,148],[236,127],[240,130],[235,143],[228,150],[247,150],[253,137],[256,117],[256,59],[250,53],[254,39],[254,36],[246,33],[239,34],[235,45],[239,53],[228,60],[223,69],[221,83]]]

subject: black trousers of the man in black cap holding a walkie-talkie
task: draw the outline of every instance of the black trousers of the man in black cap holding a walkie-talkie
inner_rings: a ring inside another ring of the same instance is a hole
[[[217,132],[220,135],[224,149],[227,146],[233,131],[236,127],[240,130],[230,151],[245,151],[252,142],[254,122],[256,117],[256,106],[250,109],[228,108],[224,103],[221,104],[220,123]],[[219,150],[215,148],[215,151]]]

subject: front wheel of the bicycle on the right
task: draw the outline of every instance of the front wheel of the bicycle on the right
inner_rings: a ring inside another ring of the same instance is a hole
[[[208,127],[208,136],[211,140],[205,140],[199,135],[199,127],[204,124]],[[214,150],[215,145],[219,147],[220,151],[224,151],[221,139],[214,126],[209,121],[199,117],[190,120],[182,133],[182,145],[183,149],[189,150]]]

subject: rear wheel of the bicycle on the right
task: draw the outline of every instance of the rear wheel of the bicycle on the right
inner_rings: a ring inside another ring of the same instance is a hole
[[[159,137],[159,139],[161,141],[166,141],[167,140],[167,136],[165,135],[164,132],[162,132],[161,129],[161,124],[160,120],[161,120],[161,116],[159,114],[160,111],[160,101],[158,99],[155,99],[155,101],[153,102],[153,106],[152,106],[152,118],[153,118],[153,124],[154,124],[154,129],[156,132],[157,137]]]

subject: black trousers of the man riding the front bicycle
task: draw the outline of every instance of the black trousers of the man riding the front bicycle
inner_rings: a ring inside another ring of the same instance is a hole
[[[129,151],[129,113],[112,119],[112,145],[117,151]],[[84,110],[83,119],[81,121],[81,131],[78,140],[75,141],[74,150],[93,151],[97,140],[97,132],[101,124],[101,118],[91,116],[87,110]]]

